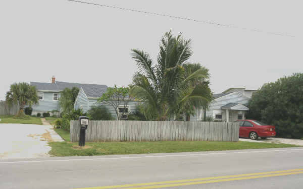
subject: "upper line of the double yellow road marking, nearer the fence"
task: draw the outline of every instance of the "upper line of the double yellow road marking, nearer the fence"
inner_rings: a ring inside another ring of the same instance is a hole
[[[295,172],[295,171],[303,171],[303,169],[290,169],[290,170],[281,170],[281,171],[268,171],[268,172],[258,172],[258,173],[248,173],[248,174],[235,174],[235,175],[228,175],[228,176],[215,176],[215,177],[193,178],[193,179],[183,179],[183,180],[171,180],[171,181],[161,181],[161,182],[146,182],[146,183],[137,183],[137,184],[83,187],[83,188],[77,188],[77,189],[111,189],[111,188],[133,187],[133,186],[156,185],[156,184],[192,182],[192,181],[201,181],[201,180],[214,180],[214,179],[222,179],[222,178],[234,178],[234,177],[241,177],[241,176],[254,176],[254,175],[285,173],[285,172]],[[144,187],[140,187],[140,188],[144,188]],[[129,188],[127,188],[127,189],[129,189]]]

